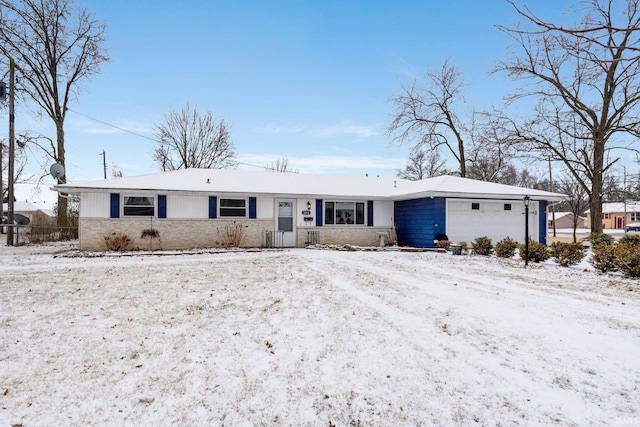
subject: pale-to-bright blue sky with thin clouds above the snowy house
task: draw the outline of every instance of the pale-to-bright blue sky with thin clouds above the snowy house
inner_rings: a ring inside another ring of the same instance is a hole
[[[469,109],[499,104],[513,87],[488,74],[508,45],[495,24],[517,19],[503,0],[83,4],[107,24],[111,61],[70,106],[69,182],[101,179],[103,150],[109,177],[114,164],[125,176],[158,172],[154,142],[117,128],[153,138],[154,124],[187,102],[231,124],[243,163],[286,156],[302,173],[395,176],[409,147],[389,145],[388,99],[402,83],[449,59],[469,84]],[[16,129],[55,135],[20,105]],[[16,196],[51,207],[52,183]]]

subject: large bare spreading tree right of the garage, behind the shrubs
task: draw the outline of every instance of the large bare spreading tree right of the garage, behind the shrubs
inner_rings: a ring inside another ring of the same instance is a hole
[[[591,231],[601,232],[605,175],[617,150],[637,152],[633,138],[640,136],[639,2],[589,0],[576,24],[559,25],[507,1],[524,24],[499,27],[518,53],[495,71],[532,83],[510,102],[537,100],[530,118],[511,120],[514,136],[522,151],[564,164],[588,195]]]

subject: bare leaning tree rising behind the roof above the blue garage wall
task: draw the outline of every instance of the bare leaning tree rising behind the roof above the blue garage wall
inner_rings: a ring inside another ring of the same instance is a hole
[[[460,176],[465,177],[467,130],[456,110],[464,100],[464,80],[448,61],[438,71],[427,72],[424,79],[426,86],[416,79],[391,97],[396,113],[388,134],[394,142],[414,141],[414,148],[446,148],[455,158]]]

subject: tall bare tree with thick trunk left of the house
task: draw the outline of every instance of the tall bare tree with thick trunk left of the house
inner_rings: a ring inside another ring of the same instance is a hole
[[[105,25],[73,0],[0,0],[0,61],[13,58],[17,92],[34,101],[56,128],[55,159],[65,165],[64,121],[79,84],[108,60]],[[58,179],[64,184],[66,177]],[[58,196],[58,224],[67,199]]]

